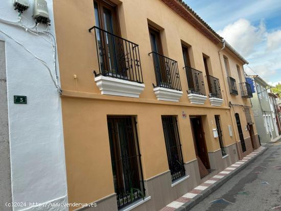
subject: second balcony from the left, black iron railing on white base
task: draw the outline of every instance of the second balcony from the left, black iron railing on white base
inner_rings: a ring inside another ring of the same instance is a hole
[[[157,100],[178,102],[182,96],[177,61],[156,52],[151,52],[156,86],[153,84]]]

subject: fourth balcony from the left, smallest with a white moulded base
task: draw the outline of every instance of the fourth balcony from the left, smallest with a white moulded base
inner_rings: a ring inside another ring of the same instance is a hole
[[[209,87],[209,100],[212,106],[221,106],[223,99],[221,93],[220,80],[213,76],[207,75]]]

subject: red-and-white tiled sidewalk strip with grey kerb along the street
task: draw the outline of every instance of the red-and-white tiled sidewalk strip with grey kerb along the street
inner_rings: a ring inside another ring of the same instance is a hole
[[[219,174],[195,187],[189,193],[184,194],[180,198],[166,205],[159,211],[183,211],[189,210],[197,203],[206,198],[209,194],[213,193],[220,186],[222,186],[227,180],[235,176],[238,172],[243,170],[248,166],[257,156],[263,154],[266,151],[266,147],[260,147],[259,149],[254,150],[251,154],[245,156],[242,160],[237,161],[232,164],[230,167],[226,168],[224,171],[221,171]]]

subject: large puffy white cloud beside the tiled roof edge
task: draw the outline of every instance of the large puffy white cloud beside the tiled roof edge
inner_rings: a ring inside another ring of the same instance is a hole
[[[263,20],[255,27],[249,20],[239,19],[218,33],[249,61],[251,68],[244,68],[247,74],[274,84],[281,80],[281,30],[268,33]]]

